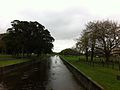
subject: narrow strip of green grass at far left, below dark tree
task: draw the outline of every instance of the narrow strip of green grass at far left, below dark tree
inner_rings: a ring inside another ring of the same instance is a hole
[[[27,62],[28,59],[0,60],[0,67]]]

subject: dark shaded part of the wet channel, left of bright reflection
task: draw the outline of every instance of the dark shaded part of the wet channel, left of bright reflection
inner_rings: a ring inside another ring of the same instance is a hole
[[[45,63],[45,60],[32,63],[17,71],[1,75],[0,90],[45,90],[44,82],[47,82]]]

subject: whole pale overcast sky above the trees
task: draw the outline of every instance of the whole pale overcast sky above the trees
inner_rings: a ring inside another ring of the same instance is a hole
[[[0,0],[0,32],[13,20],[38,21],[55,38],[54,51],[70,48],[85,24],[120,21],[120,0]]]

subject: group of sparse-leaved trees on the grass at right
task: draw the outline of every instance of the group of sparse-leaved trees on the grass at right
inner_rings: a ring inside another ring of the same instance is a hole
[[[91,61],[97,55],[109,62],[115,48],[120,48],[120,25],[110,20],[89,22],[76,43],[76,49],[85,53],[86,61],[89,55]]]

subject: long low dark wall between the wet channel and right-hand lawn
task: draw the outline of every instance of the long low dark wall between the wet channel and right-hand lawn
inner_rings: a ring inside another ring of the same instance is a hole
[[[86,90],[104,90],[99,84],[87,77],[84,73],[74,67],[72,64],[60,57],[63,63],[68,67],[68,69],[73,73],[75,78]]]

